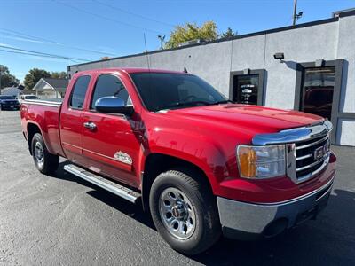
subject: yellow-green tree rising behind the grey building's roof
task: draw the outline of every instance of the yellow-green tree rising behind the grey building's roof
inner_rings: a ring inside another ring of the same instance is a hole
[[[185,25],[175,27],[170,34],[170,40],[165,43],[165,48],[175,48],[179,43],[195,39],[213,41],[217,38],[217,25],[212,20],[206,21],[201,27],[195,23],[185,23]]]

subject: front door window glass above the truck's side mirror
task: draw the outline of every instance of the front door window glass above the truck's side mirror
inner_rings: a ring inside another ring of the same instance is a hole
[[[95,109],[95,103],[99,98],[107,96],[122,98],[126,105],[131,104],[123,83],[112,74],[102,74],[99,76],[91,99],[91,109]]]

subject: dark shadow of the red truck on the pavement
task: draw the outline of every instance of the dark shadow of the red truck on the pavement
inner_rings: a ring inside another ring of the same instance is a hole
[[[155,230],[149,213],[140,205],[65,173],[65,164],[60,163],[53,177],[91,187],[89,195]],[[335,189],[317,220],[302,223],[278,237],[259,241],[221,238],[209,251],[191,259],[205,265],[355,265],[355,193]]]

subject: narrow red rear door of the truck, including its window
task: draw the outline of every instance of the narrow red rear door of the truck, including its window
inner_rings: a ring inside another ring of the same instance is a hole
[[[67,159],[79,164],[83,164],[83,106],[90,81],[90,75],[76,78],[71,94],[63,102],[60,113],[61,145]]]

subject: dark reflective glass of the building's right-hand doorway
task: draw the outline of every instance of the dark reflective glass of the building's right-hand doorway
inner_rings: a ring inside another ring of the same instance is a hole
[[[331,120],[335,66],[304,68],[301,111]]]

